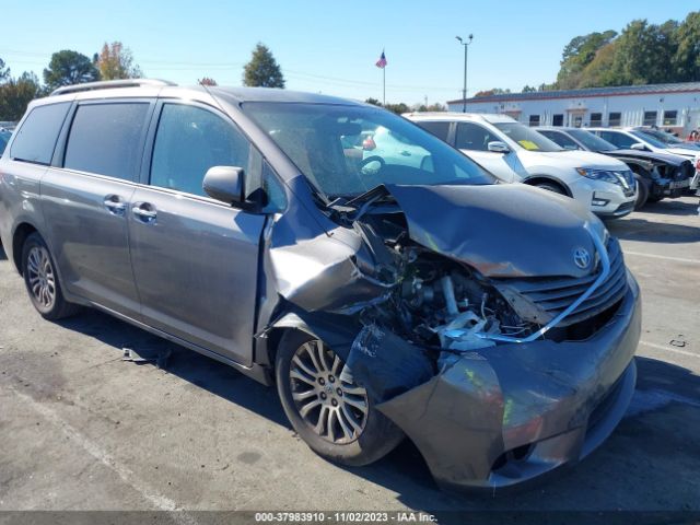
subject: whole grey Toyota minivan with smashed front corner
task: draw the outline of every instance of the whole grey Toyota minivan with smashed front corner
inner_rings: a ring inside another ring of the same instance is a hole
[[[348,162],[380,128],[431,161]],[[0,160],[0,237],[45,318],[95,307],[276,384],[332,462],[408,435],[441,486],[491,491],[612,432],[641,329],[604,224],[494,183],[375,106],[98,82],[30,104]]]

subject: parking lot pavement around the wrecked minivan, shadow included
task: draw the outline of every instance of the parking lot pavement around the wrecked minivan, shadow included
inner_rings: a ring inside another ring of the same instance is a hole
[[[643,293],[638,390],[588,458],[513,494],[440,491],[410,443],[316,456],[277,394],[98,312],[43,320],[0,252],[0,510],[700,511],[698,199],[611,221]],[[172,349],[164,370],[122,348]]]

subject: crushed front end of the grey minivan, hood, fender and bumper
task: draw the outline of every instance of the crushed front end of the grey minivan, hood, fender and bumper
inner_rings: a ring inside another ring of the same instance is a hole
[[[439,483],[521,482],[612,431],[641,313],[599,221],[517,186],[386,186],[336,208],[330,235],[271,247],[287,307],[269,328],[329,345]]]

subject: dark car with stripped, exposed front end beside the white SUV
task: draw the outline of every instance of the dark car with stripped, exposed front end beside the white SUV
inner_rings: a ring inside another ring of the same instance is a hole
[[[547,126],[535,129],[564,150],[593,151],[625,162],[637,178],[637,210],[648,201],[680,197],[695,173],[692,163],[684,156],[621,149],[585,129]]]

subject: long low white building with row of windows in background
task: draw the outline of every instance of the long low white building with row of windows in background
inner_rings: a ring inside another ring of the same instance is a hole
[[[462,112],[464,100],[447,102]],[[508,93],[467,100],[469,113],[502,113],[529,126],[700,127],[700,82]]]

